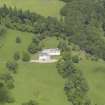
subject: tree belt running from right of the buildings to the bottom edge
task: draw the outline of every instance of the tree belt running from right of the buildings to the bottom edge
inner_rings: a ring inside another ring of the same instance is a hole
[[[87,81],[82,72],[76,68],[75,63],[77,62],[73,59],[74,56],[72,56],[68,47],[57,63],[58,72],[65,79],[64,91],[67,99],[72,105],[91,105],[88,97]]]

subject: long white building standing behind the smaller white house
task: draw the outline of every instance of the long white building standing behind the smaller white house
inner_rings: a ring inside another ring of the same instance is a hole
[[[61,52],[58,48],[44,49],[44,50],[42,50],[42,53],[47,53],[50,56],[59,56],[61,54]]]

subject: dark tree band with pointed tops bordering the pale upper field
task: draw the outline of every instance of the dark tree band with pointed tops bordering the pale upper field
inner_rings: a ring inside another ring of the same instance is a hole
[[[11,29],[38,34],[52,35],[63,32],[61,23],[54,17],[45,18],[29,10],[18,10],[6,5],[0,7],[0,23]]]

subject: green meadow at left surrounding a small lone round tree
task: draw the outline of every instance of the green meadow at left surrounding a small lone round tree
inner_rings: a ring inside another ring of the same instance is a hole
[[[1,42],[0,61],[5,61],[13,58],[15,52],[23,52],[27,50],[28,45],[32,41],[32,34],[8,30],[5,38]],[[16,43],[16,37],[21,38],[21,43]]]

